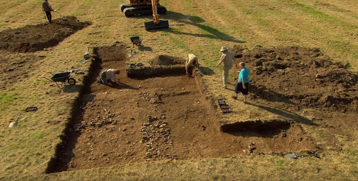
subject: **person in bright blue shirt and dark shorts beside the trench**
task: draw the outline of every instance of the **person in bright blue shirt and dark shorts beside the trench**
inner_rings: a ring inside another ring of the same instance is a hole
[[[245,67],[245,62],[239,63],[241,71],[238,71],[238,83],[235,86],[235,95],[232,97],[237,100],[238,93],[243,93],[243,102],[248,100],[249,94],[249,75],[250,70]]]

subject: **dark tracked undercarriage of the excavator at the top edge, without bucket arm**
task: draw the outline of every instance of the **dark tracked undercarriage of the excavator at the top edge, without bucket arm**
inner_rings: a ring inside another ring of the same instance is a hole
[[[156,1],[157,13],[159,15],[165,15],[166,8],[159,4],[159,0]],[[120,5],[120,10],[126,17],[152,15],[152,0],[127,0],[127,2],[128,3],[122,3]]]

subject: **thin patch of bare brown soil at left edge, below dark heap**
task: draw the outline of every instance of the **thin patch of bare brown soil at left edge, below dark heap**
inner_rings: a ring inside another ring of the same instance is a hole
[[[0,90],[8,88],[18,81],[26,81],[31,70],[38,67],[37,61],[43,57],[23,54],[9,54],[0,50]]]

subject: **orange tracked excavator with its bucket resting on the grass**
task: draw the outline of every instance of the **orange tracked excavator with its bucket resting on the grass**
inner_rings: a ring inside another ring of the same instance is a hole
[[[150,15],[152,13],[153,21],[144,23],[145,30],[169,28],[167,20],[159,20],[159,15],[166,14],[166,8],[159,4],[159,0],[127,0],[127,2],[120,6],[120,10],[126,17]]]

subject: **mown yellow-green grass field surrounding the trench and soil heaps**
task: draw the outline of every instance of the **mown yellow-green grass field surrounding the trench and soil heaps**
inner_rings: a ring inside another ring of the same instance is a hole
[[[28,24],[44,23],[41,0],[12,0],[0,4],[0,31]],[[78,31],[45,51],[27,53],[45,58],[34,63],[36,70],[26,81],[19,81],[0,92],[0,180],[357,180],[357,132],[344,141],[343,150],[329,150],[322,159],[285,159],[280,155],[242,155],[213,159],[123,164],[83,171],[45,174],[55,147],[60,143],[71,105],[80,86],[64,92],[40,77],[46,72],[66,71],[72,66],[87,70],[80,63],[87,47],[122,42],[138,35],[151,52],[138,52],[131,61],[150,60],[159,54],[182,56],[194,53],[215,74],[204,79],[210,94],[220,90],[222,77],[216,63],[220,47],[301,46],[319,47],[334,61],[349,63],[358,71],[358,5],[349,0],[162,0],[168,9],[164,19],[171,29],[148,32],[133,28],[150,17],[126,18],[120,12],[124,0],[52,0],[61,15],[74,15],[91,26]],[[57,13],[52,13],[59,18]],[[22,55],[22,54],[17,54]],[[76,77],[83,79],[83,77]],[[49,97],[46,93],[54,96]],[[233,103],[234,104],[234,103]],[[22,113],[19,127],[9,129],[10,120],[26,107],[36,105],[34,113]],[[241,107],[242,103],[234,105]],[[254,109],[251,111],[262,111]],[[237,120],[238,115],[230,117]],[[230,119],[229,118],[229,119]],[[307,128],[310,129],[310,128]],[[322,128],[323,129],[323,128]],[[324,141],[321,129],[311,130]],[[339,138],[338,138],[339,139]]]

